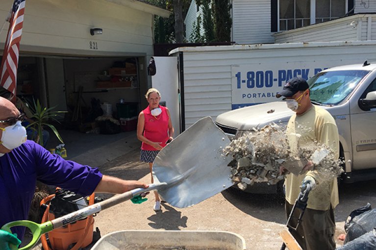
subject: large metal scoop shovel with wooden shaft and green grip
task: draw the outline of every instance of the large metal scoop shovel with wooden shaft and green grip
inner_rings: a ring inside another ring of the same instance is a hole
[[[1,229],[10,232],[10,228],[15,226],[30,228],[33,238],[20,249],[28,250],[42,234],[54,228],[83,219],[150,190],[157,190],[164,201],[178,208],[196,205],[234,184],[229,177],[231,169],[227,166],[231,159],[222,154],[222,149],[229,143],[225,133],[214,124],[211,117],[204,117],[159,152],[153,164],[154,183],[149,188],[137,188],[116,195],[43,224],[16,221]],[[14,246],[13,249],[17,248]]]

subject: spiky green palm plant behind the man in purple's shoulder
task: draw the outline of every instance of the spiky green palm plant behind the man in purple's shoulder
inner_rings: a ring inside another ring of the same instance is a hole
[[[35,139],[35,142],[39,145],[44,145],[43,141],[43,126],[49,127],[52,132],[55,134],[55,136],[59,139],[59,141],[63,142],[63,139],[61,138],[59,132],[56,130],[55,126],[49,123],[50,120],[54,120],[58,123],[60,123],[56,117],[59,117],[61,113],[66,113],[65,111],[53,111],[55,107],[46,108],[42,107],[42,105],[39,102],[39,99],[35,101],[33,99],[33,105],[28,105],[30,111],[33,113],[33,116],[31,119],[33,122],[31,122],[29,125],[26,126],[26,128],[31,128],[33,131],[36,132],[37,137]]]

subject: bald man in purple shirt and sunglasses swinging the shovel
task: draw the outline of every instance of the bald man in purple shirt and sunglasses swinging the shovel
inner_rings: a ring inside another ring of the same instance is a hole
[[[74,161],[64,160],[31,140],[26,140],[18,109],[0,97],[0,227],[17,220],[27,219],[36,180],[69,189],[82,196],[93,192],[124,193],[148,185],[102,175]],[[13,227],[18,238],[24,236],[24,227]],[[9,249],[9,243],[21,241],[13,234],[0,230],[0,249]]]

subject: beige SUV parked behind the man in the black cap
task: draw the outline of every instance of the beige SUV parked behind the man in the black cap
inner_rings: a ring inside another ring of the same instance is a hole
[[[340,157],[346,162],[342,182],[376,179],[376,63],[329,68],[307,82],[312,103],[326,109],[337,123]],[[216,124],[232,139],[272,122],[287,125],[292,114],[277,101],[220,114]],[[246,191],[270,193],[277,186],[257,183]]]

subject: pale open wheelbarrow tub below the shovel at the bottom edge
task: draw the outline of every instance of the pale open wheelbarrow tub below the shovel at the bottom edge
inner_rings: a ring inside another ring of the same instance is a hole
[[[122,230],[104,235],[91,250],[246,250],[242,236],[226,231]]]

